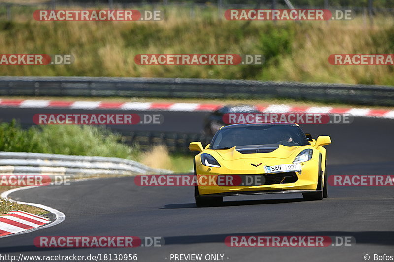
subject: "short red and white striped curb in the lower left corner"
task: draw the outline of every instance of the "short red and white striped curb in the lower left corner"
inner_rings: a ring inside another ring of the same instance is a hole
[[[48,219],[42,216],[33,215],[20,210],[12,210],[0,216],[0,236],[38,228],[49,222]]]

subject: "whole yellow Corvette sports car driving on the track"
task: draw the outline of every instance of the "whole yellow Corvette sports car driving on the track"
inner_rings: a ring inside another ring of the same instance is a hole
[[[190,143],[197,176],[196,205],[215,206],[223,196],[302,193],[305,200],[327,197],[326,149],[297,124],[235,124],[219,129],[205,149]]]

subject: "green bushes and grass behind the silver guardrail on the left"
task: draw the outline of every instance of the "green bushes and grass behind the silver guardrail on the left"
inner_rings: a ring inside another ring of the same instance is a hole
[[[121,143],[105,128],[79,125],[45,125],[22,129],[13,120],[0,124],[0,151],[89,155],[138,159],[139,147]]]

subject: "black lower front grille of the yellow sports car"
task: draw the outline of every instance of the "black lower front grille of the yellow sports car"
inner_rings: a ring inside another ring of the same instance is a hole
[[[226,176],[226,175],[219,175]],[[218,177],[219,177],[218,176]],[[236,177],[239,183],[237,184],[226,184],[218,183],[220,186],[259,186],[259,185],[275,185],[275,184],[289,184],[298,181],[296,172],[281,172],[273,174],[238,174],[230,175]],[[222,177],[222,181],[223,181]],[[218,181],[218,180],[217,180]]]

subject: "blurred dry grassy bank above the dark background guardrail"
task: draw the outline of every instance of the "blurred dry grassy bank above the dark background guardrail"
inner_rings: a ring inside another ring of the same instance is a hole
[[[392,53],[391,17],[352,21],[226,21],[166,10],[157,22],[0,21],[2,53],[72,54],[72,65],[2,66],[0,75],[134,76],[394,84],[393,66],[334,66],[335,53]],[[289,46],[283,47],[283,40]],[[272,43],[277,50],[266,49]],[[276,53],[275,53],[276,51]],[[263,66],[136,65],[149,53],[264,54]]]

